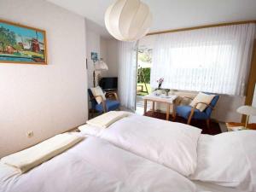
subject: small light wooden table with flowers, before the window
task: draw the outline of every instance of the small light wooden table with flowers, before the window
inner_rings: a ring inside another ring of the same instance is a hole
[[[166,120],[169,120],[171,105],[172,105],[172,118],[175,119],[175,117],[176,117],[176,111],[175,111],[176,99],[177,99],[177,96],[166,96],[166,95],[155,96],[154,94],[150,94],[148,96],[143,96],[144,115],[147,113],[147,102],[148,101],[152,102],[153,113],[154,113],[154,103],[162,102],[162,103],[166,103]]]

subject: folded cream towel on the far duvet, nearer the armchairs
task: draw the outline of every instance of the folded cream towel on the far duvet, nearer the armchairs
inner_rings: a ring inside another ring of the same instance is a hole
[[[108,113],[103,113],[94,119],[90,119],[86,123],[100,128],[107,128],[109,125],[112,125],[114,122],[123,119],[130,114],[131,113],[125,111],[110,111]]]

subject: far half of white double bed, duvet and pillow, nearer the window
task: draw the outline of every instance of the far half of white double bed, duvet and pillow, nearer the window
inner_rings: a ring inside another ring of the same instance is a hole
[[[198,189],[256,191],[255,131],[208,136],[189,125],[135,114],[107,129],[80,130],[189,177]]]

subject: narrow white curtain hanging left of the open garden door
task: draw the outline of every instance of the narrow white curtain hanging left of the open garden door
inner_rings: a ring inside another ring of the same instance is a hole
[[[136,80],[136,43],[119,42],[119,100],[121,106],[131,110],[135,110]]]

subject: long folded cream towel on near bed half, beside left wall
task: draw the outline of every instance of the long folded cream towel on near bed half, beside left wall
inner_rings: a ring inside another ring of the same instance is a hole
[[[38,143],[31,148],[26,148],[15,154],[3,157],[1,162],[15,167],[20,173],[24,173],[55,157],[57,154],[61,154],[67,148],[71,148],[76,143],[79,143],[83,138],[77,134],[63,133]]]

